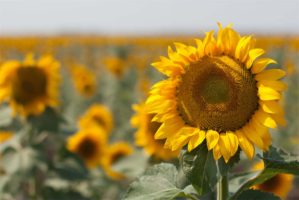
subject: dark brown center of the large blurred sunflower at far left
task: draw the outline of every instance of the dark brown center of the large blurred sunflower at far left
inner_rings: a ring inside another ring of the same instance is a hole
[[[12,95],[17,103],[26,104],[46,93],[45,72],[38,67],[20,67],[12,79]]]

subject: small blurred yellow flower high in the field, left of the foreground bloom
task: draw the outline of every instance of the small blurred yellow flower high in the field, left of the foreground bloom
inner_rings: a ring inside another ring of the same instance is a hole
[[[121,77],[123,75],[123,71],[126,68],[125,60],[118,57],[107,57],[104,59],[104,62],[107,65],[108,70],[117,77]]]

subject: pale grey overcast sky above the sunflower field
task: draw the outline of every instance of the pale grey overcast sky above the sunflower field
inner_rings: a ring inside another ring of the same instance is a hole
[[[299,1],[2,1],[1,35],[298,34]]]

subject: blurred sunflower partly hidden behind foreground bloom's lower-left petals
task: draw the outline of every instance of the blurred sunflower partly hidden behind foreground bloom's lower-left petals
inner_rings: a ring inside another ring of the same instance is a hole
[[[178,158],[180,150],[171,151],[164,148],[165,139],[154,139],[155,132],[162,123],[152,121],[155,114],[145,113],[145,103],[140,102],[139,105],[133,104],[132,109],[137,113],[131,118],[132,126],[138,128],[135,132],[135,144],[143,146],[144,150],[153,155],[155,160],[169,158]]]

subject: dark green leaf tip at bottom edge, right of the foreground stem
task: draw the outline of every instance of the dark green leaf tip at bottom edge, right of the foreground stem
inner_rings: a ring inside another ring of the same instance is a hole
[[[241,192],[237,198],[237,200],[260,200],[260,199],[269,199],[269,200],[277,200],[280,199],[280,197],[275,196],[273,193],[269,192],[261,192],[261,190],[254,190],[253,188],[249,190],[244,190]]]

